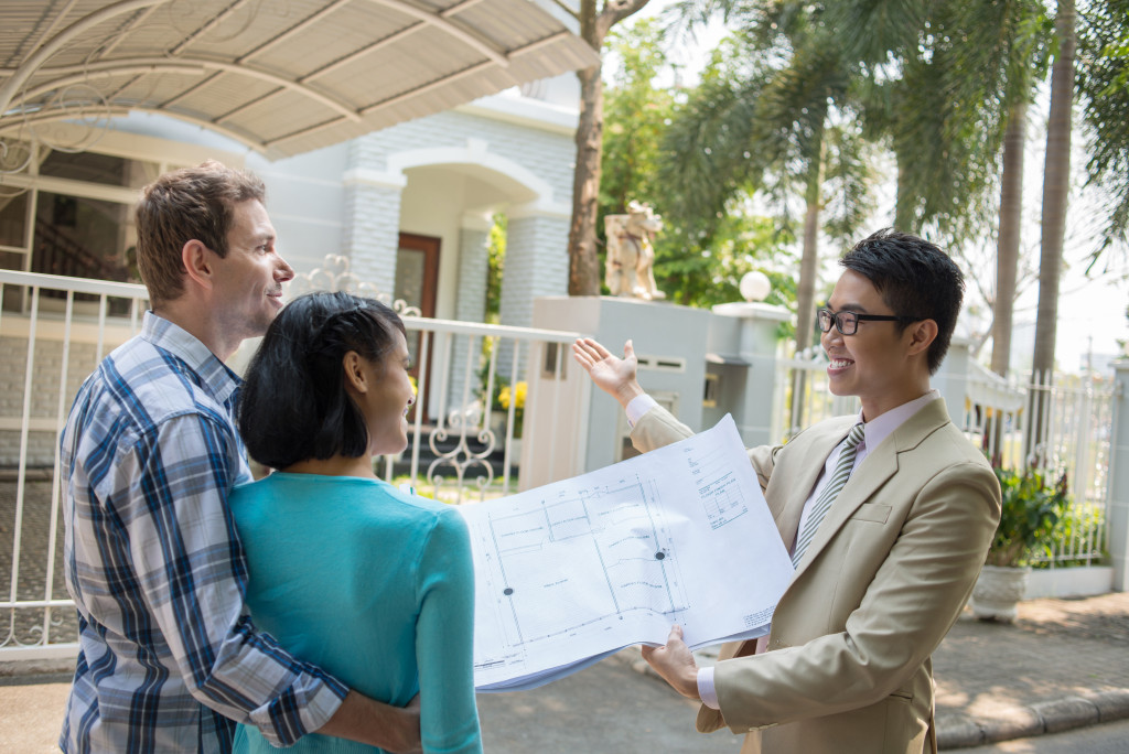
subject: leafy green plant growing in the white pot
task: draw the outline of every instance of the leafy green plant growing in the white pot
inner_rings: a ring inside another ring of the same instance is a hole
[[[1003,509],[986,562],[1025,566],[1036,553],[1049,553],[1053,545],[1056,527],[1068,505],[1066,474],[1051,484],[1038,468],[994,466],[994,471],[1003,493]]]

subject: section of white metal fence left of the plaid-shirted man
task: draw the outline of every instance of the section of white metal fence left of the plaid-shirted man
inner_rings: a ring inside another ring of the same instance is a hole
[[[0,456],[7,467],[0,527],[10,533],[0,534],[0,573],[8,570],[0,659],[77,651],[73,603],[59,564],[59,432],[78,383],[137,332],[146,300],[141,286],[0,270],[0,370],[7,386],[0,395]],[[122,308],[125,316],[111,314]]]

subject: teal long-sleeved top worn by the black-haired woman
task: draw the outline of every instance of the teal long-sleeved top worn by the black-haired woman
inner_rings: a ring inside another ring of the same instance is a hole
[[[277,472],[231,491],[247,606],[287,651],[375,700],[420,693],[425,752],[482,751],[474,704],[474,570],[454,508],[379,480]],[[240,725],[235,752],[273,748]],[[309,734],[287,751],[379,752]]]

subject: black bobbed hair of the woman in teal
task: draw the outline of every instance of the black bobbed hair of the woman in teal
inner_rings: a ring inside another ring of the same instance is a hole
[[[368,450],[365,417],[345,392],[349,351],[377,362],[404,333],[395,312],[351,293],[308,293],[271,323],[236,409],[247,454],[271,468]]]

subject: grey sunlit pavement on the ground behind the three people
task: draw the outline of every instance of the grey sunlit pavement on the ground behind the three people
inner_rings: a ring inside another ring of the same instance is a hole
[[[638,651],[541,689],[479,696],[491,754],[736,752],[693,731],[694,705],[641,673]],[[0,668],[2,672],[3,668]],[[1014,625],[961,620],[934,655],[940,746],[954,749],[1129,718],[1129,593],[1035,599]],[[0,752],[50,752],[65,677],[0,677]]]

